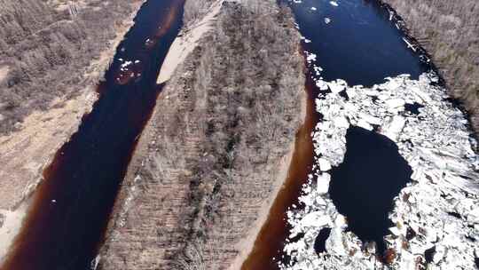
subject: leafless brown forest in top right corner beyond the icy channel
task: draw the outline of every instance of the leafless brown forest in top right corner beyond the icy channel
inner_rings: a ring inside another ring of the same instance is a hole
[[[461,99],[479,131],[479,2],[382,0],[396,9]]]

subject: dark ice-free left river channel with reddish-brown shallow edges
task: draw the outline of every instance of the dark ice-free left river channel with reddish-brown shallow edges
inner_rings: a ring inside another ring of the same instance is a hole
[[[183,2],[149,0],[137,13],[92,112],[44,171],[2,270],[90,269],[161,89],[156,79],[182,26]]]

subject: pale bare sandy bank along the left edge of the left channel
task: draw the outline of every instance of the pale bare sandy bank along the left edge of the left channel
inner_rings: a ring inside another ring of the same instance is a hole
[[[134,10],[137,11],[141,4],[142,1],[135,2]],[[0,137],[0,163],[3,164],[0,170],[0,220],[3,219],[0,222],[0,261],[20,230],[21,220],[27,213],[28,198],[42,181],[43,170],[51,163],[59,147],[78,130],[82,115],[90,112],[98,99],[96,82],[109,67],[116,47],[133,25],[135,14],[132,12],[118,26],[117,35],[108,49],[86,68],[84,81],[92,84],[86,86],[75,99],[55,99],[49,110],[36,111],[28,115],[23,123],[18,123],[19,131]]]

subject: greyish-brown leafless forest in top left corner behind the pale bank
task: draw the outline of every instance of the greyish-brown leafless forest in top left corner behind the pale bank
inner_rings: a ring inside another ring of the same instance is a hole
[[[133,12],[128,0],[0,0],[0,134],[33,110],[72,96],[98,78],[85,77]]]

